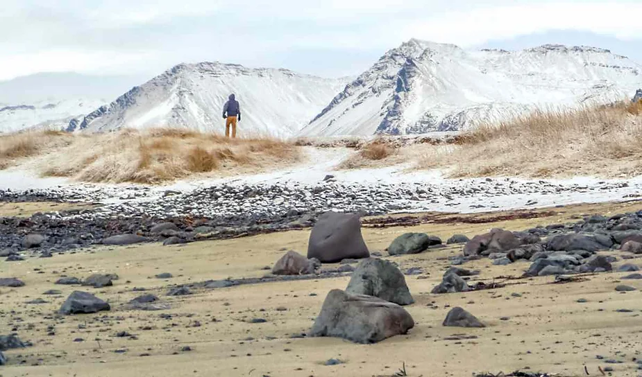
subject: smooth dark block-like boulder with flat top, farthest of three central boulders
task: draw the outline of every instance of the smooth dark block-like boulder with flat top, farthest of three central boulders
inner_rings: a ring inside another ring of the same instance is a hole
[[[350,213],[326,212],[319,216],[310,233],[307,258],[321,263],[337,263],[344,259],[368,258],[370,252],[361,234],[359,216]]]

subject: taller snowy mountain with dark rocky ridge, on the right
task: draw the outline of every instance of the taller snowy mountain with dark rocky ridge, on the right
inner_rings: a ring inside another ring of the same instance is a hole
[[[350,82],[300,134],[462,130],[534,108],[622,100],[641,86],[642,65],[605,49],[464,51],[410,40]]]

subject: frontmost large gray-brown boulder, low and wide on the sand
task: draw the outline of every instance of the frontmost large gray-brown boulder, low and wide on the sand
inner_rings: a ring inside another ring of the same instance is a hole
[[[414,320],[401,306],[366,295],[331,290],[316,317],[311,336],[341,337],[369,344],[405,334]]]

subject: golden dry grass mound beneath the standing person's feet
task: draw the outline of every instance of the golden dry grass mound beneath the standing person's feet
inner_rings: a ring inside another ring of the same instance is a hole
[[[155,184],[196,173],[260,170],[300,159],[296,146],[272,139],[226,139],[215,134],[157,129],[111,134],[16,134],[0,137],[4,158],[38,157],[45,176],[84,182]],[[8,166],[8,165],[6,165]],[[6,167],[4,166],[4,167]]]

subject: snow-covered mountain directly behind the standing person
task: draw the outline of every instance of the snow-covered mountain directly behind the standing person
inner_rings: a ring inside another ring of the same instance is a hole
[[[68,130],[171,127],[223,132],[223,104],[234,93],[241,103],[240,134],[289,137],[348,81],[219,62],[179,64],[110,105],[74,119]]]

